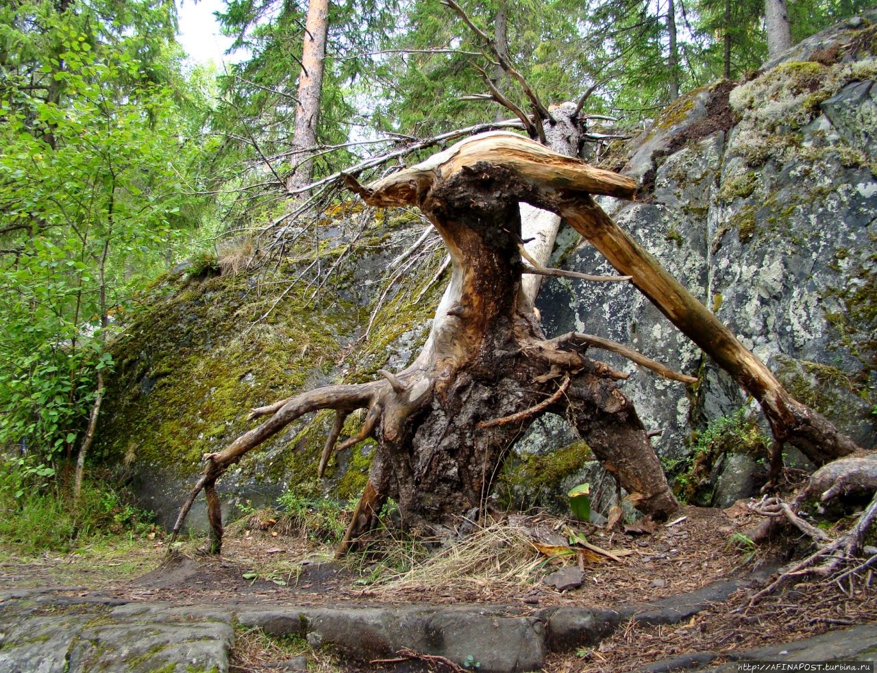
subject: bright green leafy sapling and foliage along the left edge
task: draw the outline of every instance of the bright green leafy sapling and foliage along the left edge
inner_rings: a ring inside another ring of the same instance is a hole
[[[82,490],[112,341],[208,202],[187,184],[205,101],[173,49],[173,4],[105,10],[78,0],[0,4],[7,528],[17,526],[11,516],[45,508],[60,528],[68,519],[77,532],[89,527],[99,507],[71,512],[65,490]]]

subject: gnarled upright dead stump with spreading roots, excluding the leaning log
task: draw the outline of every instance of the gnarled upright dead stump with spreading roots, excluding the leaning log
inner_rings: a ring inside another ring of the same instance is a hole
[[[545,162],[543,184],[527,175],[526,167],[539,161]],[[351,180],[369,204],[417,204],[445,240],[453,273],[429,339],[410,367],[381,372],[383,380],[328,386],[254,410],[253,416],[271,418],[206,456],[208,466],[175,528],[197,492],[213,494],[217,477],[247,451],[303,414],[326,408],[339,417],[369,410],[355,437],[335,446],[339,431],[333,430],[327,454],[367,437],[378,442],[348,541],[373,525],[386,498],[396,500],[414,530],[451,524],[481,507],[510,444],[545,412],[564,415],[579,429],[607,469],[638,494],[641,511],[673,512],[678,505],[645,428],[617,389],[616,380],[626,376],[589,359],[584,353],[595,341],[584,335],[546,340],[520,292],[519,204],[545,207],[542,191],[554,189],[552,179],[578,193],[631,197],[636,189],[629,178],[510,133],[463,141],[371,188]],[[217,551],[221,524],[216,498],[209,499]]]

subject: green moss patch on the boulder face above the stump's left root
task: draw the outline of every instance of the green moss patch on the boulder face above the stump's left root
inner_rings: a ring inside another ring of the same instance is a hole
[[[203,453],[252,426],[250,408],[325,376],[356,311],[271,288],[243,276],[191,280],[143,311],[113,348],[96,456],[194,472]]]

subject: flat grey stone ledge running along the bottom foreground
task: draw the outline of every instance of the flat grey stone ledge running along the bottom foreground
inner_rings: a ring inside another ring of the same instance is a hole
[[[260,626],[268,634],[302,636],[315,648],[331,645],[360,662],[392,657],[399,649],[410,648],[445,656],[461,666],[477,662],[483,673],[521,673],[542,669],[549,652],[595,647],[630,619],[646,624],[690,619],[741,586],[742,582],[722,582],[617,610],[488,605],[199,607],[71,597],[58,590],[5,591],[0,592],[0,673],[225,673],[234,645],[235,619],[240,626]],[[877,651],[875,625],[849,637],[834,632],[818,638],[825,637],[834,643],[833,649],[817,642],[807,650],[807,641],[802,641],[795,644],[795,660],[814,653],[843,658],[851,652]],[[747,660],[788,660],[781,652],[792,652],[791,648],[774,648],[773,654],[758,650]],[[700,669],[713,659],[710,653],[693,653],[642,670]],[[416,670],[417,664],[412,665],[407,669]]]

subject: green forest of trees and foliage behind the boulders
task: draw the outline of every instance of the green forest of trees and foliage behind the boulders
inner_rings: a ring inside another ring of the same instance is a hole
[[[321,2],[227,2],[217,19],[246,57],[222,69],[187,59],[170,0],[0,8],[0,505],[15,512],[0,535],[67,545],[138,523],[88,456],[112,341],[156,276],[276,241],[289,227],[272,224],[337,204],[311,185],[372,154],[502,120],[487,89],[527,108],[439,0]],[[543,100],[623,133],[867,4],[462,7]]]

